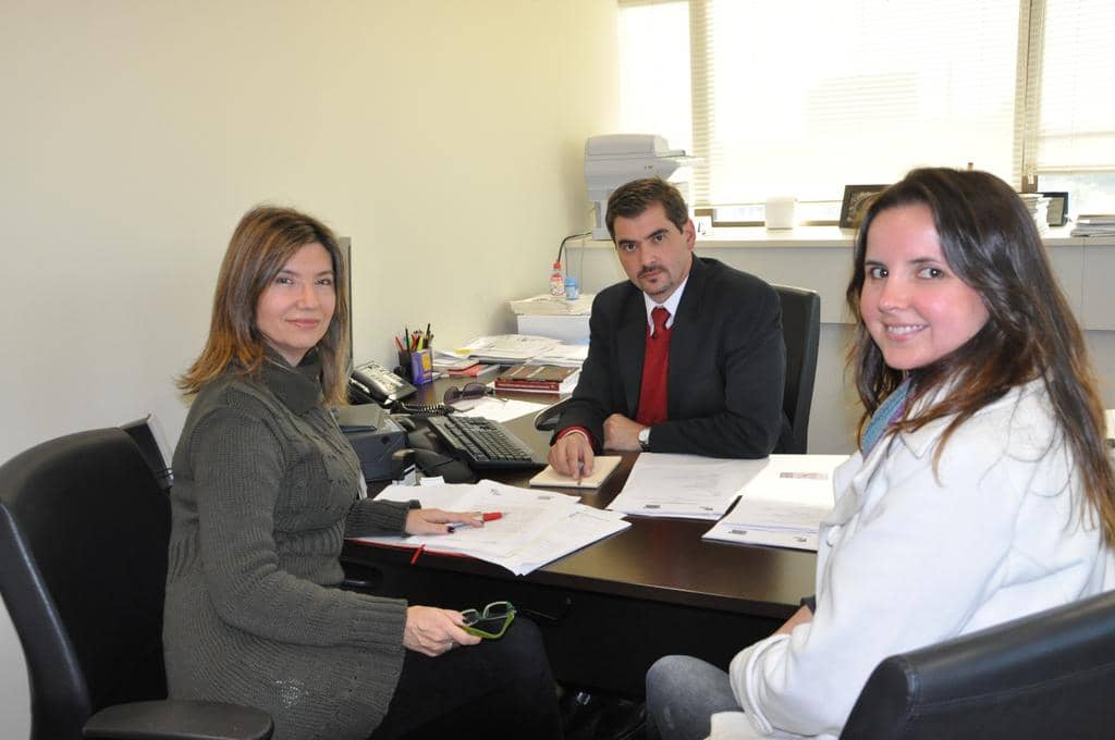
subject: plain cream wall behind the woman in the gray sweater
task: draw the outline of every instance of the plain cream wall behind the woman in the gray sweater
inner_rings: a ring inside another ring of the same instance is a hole
[[[512,327],[588,224],[585,137],[614,129],[599,0],[0,4],[7,274],[0,461],[154,411],[204,340],[240,215],[352,238],[355,356]],[[0,610],[0,737],[28,732]]]

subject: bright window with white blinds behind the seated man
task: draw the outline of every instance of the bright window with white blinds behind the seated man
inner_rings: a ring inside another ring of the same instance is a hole
[[[791,194],[835,221],[846,184],[968,163],[1074,211],[1111,194],[1105,0],[619,2],[621,124],[701,158],[697,206]]]

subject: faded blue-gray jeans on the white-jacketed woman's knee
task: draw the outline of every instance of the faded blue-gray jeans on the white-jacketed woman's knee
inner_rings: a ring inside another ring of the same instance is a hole
[[[716,712],[743,711],[728,674],[688,655],[660,658],[647,671],[648,740],[704,740]]]

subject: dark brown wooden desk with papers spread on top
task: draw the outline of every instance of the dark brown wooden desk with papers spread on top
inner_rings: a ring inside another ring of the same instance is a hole
[[[555,400],[521,396],[526,400]],[[423,402],[435,399],[427,391]],[[507,423],[544,450],[532,420]],[[605,507],[637,454],[582,502]],[[498,479],[526,485],[529,473]],[[495,476],[492,476],[493,478]],[[346,543],[346,571],[374,592],[453,608],[510,600],[542,629],[555,676],[578,687],[641,695],[647,669],[682,653],[727,668],[739,649],[775,630],[813,593],[814,553],[702,542],[708,522],[631,518],[620,534],[531,573],[489,563]]]

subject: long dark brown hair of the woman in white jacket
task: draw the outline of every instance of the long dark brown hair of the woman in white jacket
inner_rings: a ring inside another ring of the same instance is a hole
[[[855,266],[847,304],[856,318],[849,366],[863,401],[860,428],[903,380],[886,366],[860,312],[865,278],[867,232],[875,217],[903,205],[922,204],[933,214],[949,267],[983,300],[990,318],[968,342],[909,374],[913,379],[908,409],[919,409],[896,425],[913,431],[943,417],[954,417],[934,454],[980,408],[1011,388],[1041,379],[1104,538],[1115,544],[1115,475],[1104,440],[1103,405],[1096,392],[1080,328],[1054,278],[1034,218],[1005,182],[983,172],[947,168],[911,171],[870,204],[855,242]],[[953,389],[928,408],[918,403],[946,382]]]

